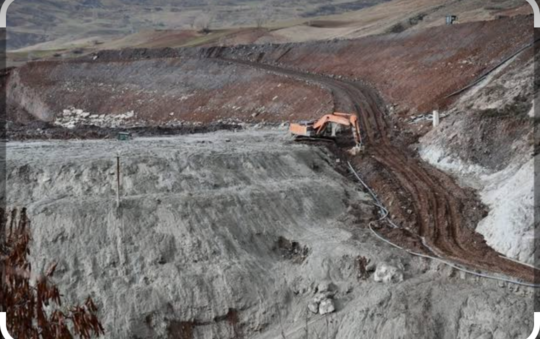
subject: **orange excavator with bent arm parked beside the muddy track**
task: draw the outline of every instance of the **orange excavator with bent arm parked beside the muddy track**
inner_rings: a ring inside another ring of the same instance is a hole
[[[317,121],[291,123],[289,132],[298,137],[335,137],[336,133],[341,129],[350,129],[353,132],[356,148],[362,147],[362,139],[360,137],[360,125],[358,117],[355,114],[334,112],[326,114]]]

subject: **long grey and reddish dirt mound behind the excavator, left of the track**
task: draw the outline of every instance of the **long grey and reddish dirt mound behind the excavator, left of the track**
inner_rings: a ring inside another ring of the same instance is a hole
[[[96,116],[89,120],[95,123],[130,113],[124,128],[226,119],[282,122],[332,109],[330,93],[319,86],[224,61],[184,58],[31,63],[12,72],[8,99],[51,123],[60,122],[66,109],[82,113],[73,124],[87,116]]]

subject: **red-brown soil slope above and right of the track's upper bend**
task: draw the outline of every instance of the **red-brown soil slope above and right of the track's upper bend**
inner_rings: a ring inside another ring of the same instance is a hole
[[[361,79],[401,112],[444,108],[444,96],[534,39],[533,18],[516,16],[325,43],[231,47],[219,55]],[[215,55],[215,51],[213,52]]]

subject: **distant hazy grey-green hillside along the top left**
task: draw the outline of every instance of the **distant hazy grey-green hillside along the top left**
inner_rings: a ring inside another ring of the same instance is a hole
[[[9,49],[59,40],[110,38],[141,30],[256,26],[359,10],[387,0],[17,0],[8,13]]]

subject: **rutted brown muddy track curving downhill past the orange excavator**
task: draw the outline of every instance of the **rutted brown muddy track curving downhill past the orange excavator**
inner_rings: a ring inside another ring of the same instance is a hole
[[[407,230],[383,231],[387,237],[404,246],[423,243],[423,252],[432,252],[469,268],[534,281],[534,269],[502,258],[474,231],[482,217],[478,211],[481,204],[475,193],[461,188],[453,178],[421,161],[407,144],[396,140],[395,131],[384,114],[382,101],[373,89],[356,82],[273,65],[222,60],[317,82],[332,91],[336,110],[356,111],[361,121],[366,153],[350,160],[361,169],[367,163],[370,163],[370,168],[381,169],[366,179],[385,204],[401,200],[402,206],[411,206],[406,213],[394,203],[396,207],[390,209],[392,216],[404,215],[403,220],[408,219],[410,226],[406,226]],[[385,191],[381,192],[379,189],[383,187]],[[399,194],[399,191],[404,192]],[[406,241],[411,234],[422,240]]]

